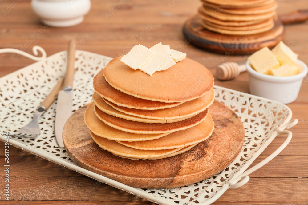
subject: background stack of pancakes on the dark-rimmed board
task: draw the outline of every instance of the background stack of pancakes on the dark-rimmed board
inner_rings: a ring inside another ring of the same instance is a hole
[[[275,0],[201,0],[202,25],[227,35],[259,34],[274,27]]]

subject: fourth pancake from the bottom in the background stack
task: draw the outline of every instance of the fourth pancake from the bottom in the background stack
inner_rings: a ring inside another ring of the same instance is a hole
[[[266,12],[263,14],[234,15],[234,14],[227,14],[224,12],[216,12],[212,8],[209,8],[209,7],[205,8],[201,6],[199,8],[199,14],[217,18],[222,21],[253,21],[256,19],[265,20],[265,19],[271,18],[276,14],[276,10],[272,10],[270,12]]]

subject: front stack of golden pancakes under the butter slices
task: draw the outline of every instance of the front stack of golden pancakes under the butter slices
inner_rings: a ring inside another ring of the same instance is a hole
[[[152,76],[111,60],[93,79],[93,103],[84,115],[93,140],[130,159],[162,159],[211,136],[214,78],[185,58]]]

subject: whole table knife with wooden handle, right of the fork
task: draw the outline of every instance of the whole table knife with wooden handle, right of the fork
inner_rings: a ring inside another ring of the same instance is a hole
[[[60,148],[64,148],[62,132],[67,119],[71,116],[73,105],[73,79],[75,63],[75,39],[68,44],[67,68],[64,76],[64,88],[59,91],[55,116],[55,137]]]

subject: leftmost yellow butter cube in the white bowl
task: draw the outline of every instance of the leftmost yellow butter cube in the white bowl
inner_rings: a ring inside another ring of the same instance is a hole
[[[270,69],[280,66],[274,54],[268,47],[264,47],[248,57],[250,65],[259,73],[268,74]]]

